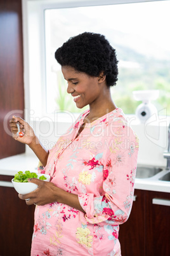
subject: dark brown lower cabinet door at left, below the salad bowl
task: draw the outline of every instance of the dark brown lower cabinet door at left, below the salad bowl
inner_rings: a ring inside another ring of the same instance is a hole
[[[0,187],[0,203],[0,255],[30,256],[35,206],[27,206],[13,187]]]

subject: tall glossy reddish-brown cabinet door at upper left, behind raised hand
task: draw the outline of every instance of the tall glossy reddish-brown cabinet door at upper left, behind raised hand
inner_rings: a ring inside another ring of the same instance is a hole
[[[12,115],[23,118],[22,0],[0,1],[0,159],[25,152],[9,135]]]

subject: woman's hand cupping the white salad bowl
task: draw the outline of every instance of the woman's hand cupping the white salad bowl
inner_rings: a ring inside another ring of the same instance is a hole
[[[20,199],[25,200],[27,205],[44,205],[57,201],[57,195],[60,188],[56,187],[55,184],[53,184],[52,182],[43,181],[36,178],[31,178],[29,182],[33,182],[38,185],[36,190],[25,195],[18,194],[18,197],[20,197]]]

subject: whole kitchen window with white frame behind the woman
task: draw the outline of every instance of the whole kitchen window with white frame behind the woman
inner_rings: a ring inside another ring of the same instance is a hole
[[[28,17],[23,36],[29,42],[25,101],[31,113],[82,112],[67,95],[55,50],[70,36],[89,31],[104,34],[117,50],[119,80],[111,89],[115,104],[134,114],[140,104],[133,99],[134,90],[159,90],[153,103],[161,114],[170,115],[170,1],[129,2],[136,1],[23,0]]]

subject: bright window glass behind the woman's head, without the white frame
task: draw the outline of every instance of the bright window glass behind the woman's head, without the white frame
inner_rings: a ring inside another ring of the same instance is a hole
[[[112,87],[115,104],[125,113],[135,113],[141,103],[134,90],[159,90],[152,103],[170,115],[170,1],[113,4],[45,11],[47,112],[79,112],[67,94],[55,51],[81,32],[104,34],[117,51],[119,80]]]

